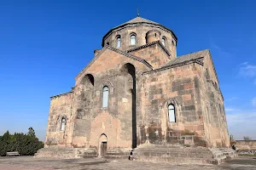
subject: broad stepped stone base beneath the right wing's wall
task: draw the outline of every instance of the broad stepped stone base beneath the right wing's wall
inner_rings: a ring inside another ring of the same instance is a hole
[[[219,164],[236,156],[230,149],[184,147],[172,144],[142,144],[131,153],[131,160],[172,164]]]

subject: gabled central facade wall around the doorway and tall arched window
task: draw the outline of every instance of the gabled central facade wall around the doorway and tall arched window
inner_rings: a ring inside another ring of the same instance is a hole
[[[142,71],[148,71],[148,67],[142,63],[106,49],[96,57],[93,65],[89,65],[77,77],[74,88],[73,147],[98,149],[103,134],[107,136],[108,149],[131,148],[133,123],[136,123],[132,119],[134,82],[125,65],[134,65],[136,84],[140,83]],[[88,75],[94,78],[91,88],[83,84],[84,77]],[[102,107],[104,86],[109,89],[107,108]],[[141,107],[139,91],[140,86],[136,86],[137,99],[134,103],[137,108]]]

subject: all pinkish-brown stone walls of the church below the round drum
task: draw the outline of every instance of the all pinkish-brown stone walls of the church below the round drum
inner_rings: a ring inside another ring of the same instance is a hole
[[[132,53],[145,56],[152,48]],[[134,77],[125,65],[134,66]],[[109,90],[107,108],[102,107],[104,86]],[[170,104],[176,122],[168,121]],[[61,114],[67,116],[65,132],[57,130]],[[223,97],[210,56],[204,65],[191,62],[150,71],[107,48],[79,74],[72,93],[51,100],[48,131],[48,144],[79,148],[98,149],[102,134],[108,137],[108,148],[130,148],[135,139],[137,144],[229,146]]]

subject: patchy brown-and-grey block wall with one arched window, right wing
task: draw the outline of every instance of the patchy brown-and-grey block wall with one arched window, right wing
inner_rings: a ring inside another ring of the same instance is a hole
[[[139,118],[140,144],[205,145],[204,125],[195,65],[182,65],[144,74],[142,115]],[[168,105],[175,105],[176,122],[168,121]],[[192,138],[194,142],[191,142]]]

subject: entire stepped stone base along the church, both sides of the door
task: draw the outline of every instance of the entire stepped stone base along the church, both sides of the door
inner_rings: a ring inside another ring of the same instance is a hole
[[[36,157],[95,158],[95,148],[49,147],[38,150]],[[236,151],[224,148],[184,147],[175,144],[142,144],[136,149],[108,149],[104,158],[131,161],[152,161],[172,164],[220,164],[235,157]]]

